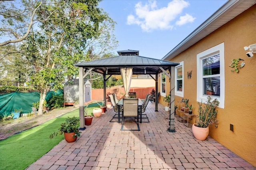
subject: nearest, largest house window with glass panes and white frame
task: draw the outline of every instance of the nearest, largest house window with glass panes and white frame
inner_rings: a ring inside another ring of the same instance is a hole
[[[217,98],[224,108],[224,43],[197,54],[197,101]]]

